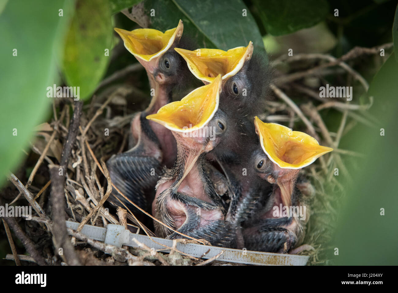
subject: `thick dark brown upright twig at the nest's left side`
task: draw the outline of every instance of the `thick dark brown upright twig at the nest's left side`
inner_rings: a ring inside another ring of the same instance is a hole
[[[65,197],[64,185],[65,179],[63,175],[59,175],[59,169],[67,172],[68,161],[74,142],[76,141],[76,134],[80,123],[80,115],[82,114],[81,101],[76,101],[73,112],[72,123],[69,125],[68,136],[61,154],[61,165],[49,166],[51,177],[51,201],[52,201],[52,214],[53,214],[53,235],[55,238],[55,246],[63,248],[66,262],[71,266],[80,265],[80,260],[76,255],[72,243],[69,241],[69,236],[66,230],[65,223]]]

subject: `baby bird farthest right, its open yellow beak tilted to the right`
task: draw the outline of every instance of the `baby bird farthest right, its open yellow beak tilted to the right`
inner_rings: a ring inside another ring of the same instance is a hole
[[[333,149],[305,133],[263,123],[257,116],[254,125],[261,148],[252,154],[253,167],[259,178],[273,184],[273,191],[244,230],[244,244],[248,250],[286,253],[304,238],[309,211],[302,204],[313,193],[308,182],[297,182],[298,173]]]

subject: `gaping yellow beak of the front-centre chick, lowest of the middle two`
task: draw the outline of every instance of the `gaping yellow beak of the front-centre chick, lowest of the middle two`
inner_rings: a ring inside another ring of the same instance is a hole
[[[171,131],[190,132],[201,129],[214,116],[219,107],[221,75],[212,83],[201,86],[182,98],[164,105],[158,113],[146,116]]]

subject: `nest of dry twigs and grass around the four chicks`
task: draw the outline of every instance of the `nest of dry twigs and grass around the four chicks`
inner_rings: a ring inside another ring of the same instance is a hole
[[[392,44],[357,47],[339,59],[330,55],[299,54],[273,61],[271,91],[260,119],[306,132],[321,145],[335,149],[301,171],[310,178],[316,190],[303,242],[310,249],[300,252],[310,256],[308,265],[332,264],[330,241],[345,197],[344,185],[350,181],[345,165],[355,166],[355,161],[361,160],[361,154],[339,148],[339,142],[359,124],[369,125],[373,119],[367,113],[371,98],[365,104],[359,104],[357,96],[366,94],[369,85],[355,69],[361,69],[364,60],[375,63],[373,68],[378,68],[381,65],[380,48],[387,51]],[[72,242],[66,237],[68,231],[64,220],[68,218],[99,227],[108,223],[128,225],[149,236],[154,235],[131,211],[115,209],[106,201],[111,193],[111,180],[105,162],[112,154],[129,148],[127,141],[133,113],[144,109],[148,103],[146,93],[131,85],[134,76],[142,69],[137,63],[107,77],[89,104],[67,98],[54,100],[53,117],[49,123],[37,127],[36,139],[25,152],[23,166],[15,175],[9,176],[12,184],[1,193],[2,205],[3,202],[26,205],[27,199],[37,214],[32,217],[33,221],[4,218],[13,252],[6,259],[17,264],[23,261],[50,265],[228,264],[181,254],[175,249],[176,242],[170,253],[163,253],[145,246],[116,248],[87,239],[80,232],[69,231],[73,234]],[[353,101],[320,97],[320,86],[331,78],[334,85],[353,86],[356,93]],[[331,116],[338,117],[337,128],[330,125]],[[335,168],[341,176],[335,176]],[[31,170],[28,178],[25,170]],[[28,252],[30,256],[17,253],[8,226],[24,243],[24,247],[17,245],[18,250]],[[59,248],[63,250],[62,255]]]

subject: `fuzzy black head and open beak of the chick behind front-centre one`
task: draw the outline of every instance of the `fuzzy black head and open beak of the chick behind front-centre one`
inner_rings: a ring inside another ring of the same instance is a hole
[[[217,74],[222,75],[220,108],[228,114],[243,117],[263,111],[271,71],[265,51],[253,51],[252,42],[247,47],[228,51],[179,48],[176,51],[185,59],[192,74],[204,83],[211,82]]]

